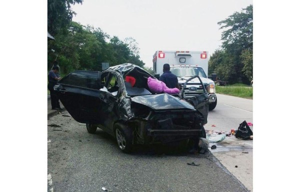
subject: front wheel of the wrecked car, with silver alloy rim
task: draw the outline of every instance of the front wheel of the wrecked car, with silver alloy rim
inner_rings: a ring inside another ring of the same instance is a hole
[[[119,149],[125,153],[131,152],[133,138],[131,129],[121,123],[115,123],[114,133]]]

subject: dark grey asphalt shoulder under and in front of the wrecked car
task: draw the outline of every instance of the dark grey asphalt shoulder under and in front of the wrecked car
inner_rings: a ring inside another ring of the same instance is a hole
[[[248,191],[210,152],[155,145],[126,154],[68,115],[48,119],[48,191]]]

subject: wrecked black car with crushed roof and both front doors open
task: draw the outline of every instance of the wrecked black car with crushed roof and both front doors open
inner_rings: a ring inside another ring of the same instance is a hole
[[[101,72],[71,72],[54,89],[70,115],[86,123],[89,133],[101,128],[116,138],[124,152],[130,151],[134,144],[206,137],[203,124],[207,122],[208,95],[205,88],[202,94],[189,99],[182,91],[176,95],[154,93],[148,87],[148,77],[156,79],[139,66],[125,63]]]

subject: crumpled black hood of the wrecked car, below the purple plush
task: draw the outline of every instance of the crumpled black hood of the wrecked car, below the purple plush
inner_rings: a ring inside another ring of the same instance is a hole
[[[134,96],[131,97],[131,101],[146,105],[154,110],[195,110],[195,108],[185,100],[167,93]]]

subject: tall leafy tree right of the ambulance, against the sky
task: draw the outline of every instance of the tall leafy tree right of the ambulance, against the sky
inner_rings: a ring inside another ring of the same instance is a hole
[[[222,31],[222,45],[209,59],[209,72],[229,83],[249,83],[252,75],[253,6],[234,12],[217,22]]]

